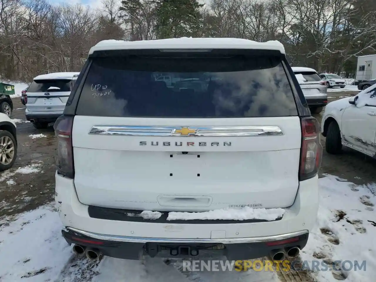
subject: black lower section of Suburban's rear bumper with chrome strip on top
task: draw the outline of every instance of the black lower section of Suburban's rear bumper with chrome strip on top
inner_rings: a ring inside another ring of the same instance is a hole
[[[163,258],[226,256],[228,260],[261,258],[272,250],[298,246],[304,248],[308,230],[276,236],[228,239],[167,239],[102,235],[73,228],[62,230],[68,244],[99,250],[120,259],[139,259],[143,255]]]

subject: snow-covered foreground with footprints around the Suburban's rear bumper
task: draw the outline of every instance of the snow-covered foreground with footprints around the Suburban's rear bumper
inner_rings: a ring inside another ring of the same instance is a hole
[[[363,261],[366,271],[323,271],[312,276],[319,282],[338,279],[373,281],[376,276],[376,185],[355,185],[335,176],[319,180],[320,208],[302,259]],[[61,222],[53,205],[17,217],[0,219],[0,280],[93,282],[216,282],[279,281],[276,273],[238,271],[182,272],[181,262],[163,259],[127,261],[105,257],[99,263],[77,258],[61,237]],[[4,259],[6,258],[6,259]],[[334,273],[334,274],[333,274]]]

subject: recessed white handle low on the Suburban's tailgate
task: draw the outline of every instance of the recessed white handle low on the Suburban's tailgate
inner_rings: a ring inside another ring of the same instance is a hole
[[[206,207],[212,203],[210,196],[176,196],[176,195],[161,195],[157,197],[157,201],[161,206],[175,206],[175,207]]]

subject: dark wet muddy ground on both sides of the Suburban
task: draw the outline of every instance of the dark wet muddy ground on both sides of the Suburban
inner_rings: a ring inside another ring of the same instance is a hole
[[[328,100],[331,102],[350,95],[354,95],[354,92],[329,92]],[[17,121],[18,156],[13,168],[0,173],[0,217],[34,209],[51,202],[54,195],[56,139],[52,124],[45,130],[35,129],[26,122],[20,98],[14,98],[13,103],[12,118]],[[315,117],[321,121],[322,114]],[[30,137],[40,133],[45,136]],[[350,149],[344,149],[341,155],[329,155],[325,152],[323,136],[321,144],[324,147],[321,176],[333,174],[356,184],[376,182],[375,159]],[[39,171],[20,173],[30,166]]]

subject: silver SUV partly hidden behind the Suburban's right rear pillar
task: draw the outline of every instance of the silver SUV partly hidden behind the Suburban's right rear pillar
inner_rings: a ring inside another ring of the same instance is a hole
[[[312,114],[318,114],[327,104],[327,88],[325,82],[313,68],[292,67],[302,88],[305,99]]]

